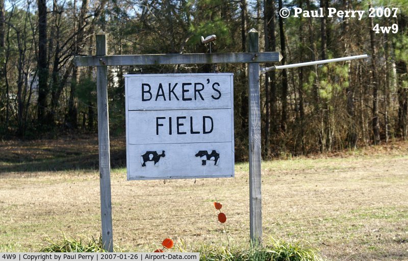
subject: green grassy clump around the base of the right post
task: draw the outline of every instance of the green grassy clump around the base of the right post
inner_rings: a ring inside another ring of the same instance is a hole
[[[317,249],[300,243],[270,240],[266,246],[249,249],[227,249],[203,246],[200,261],[322,261]]]

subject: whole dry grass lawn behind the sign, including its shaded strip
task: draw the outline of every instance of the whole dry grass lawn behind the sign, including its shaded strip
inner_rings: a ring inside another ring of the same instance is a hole
[[[46,238],[100,234],[97,140],[0,142],[0,252],[38,251]],[[186,250],[249,240],[248,164],[234,179],[126,181],[124,139],[112,150],[115,245]],[[330,260],[408,260],[408,143],[262,163],[263,235],[319,248]]]

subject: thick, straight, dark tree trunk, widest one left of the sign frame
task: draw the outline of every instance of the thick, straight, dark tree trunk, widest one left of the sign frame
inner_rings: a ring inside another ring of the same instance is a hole
[[[46,124],[48,108],[47,6],[38,0],[38,122]]]

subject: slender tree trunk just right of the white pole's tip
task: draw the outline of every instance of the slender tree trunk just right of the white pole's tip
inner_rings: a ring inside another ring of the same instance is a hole
[[[370,2],[369,8],[372,7]],[[375,33],[371,28],[374,27],[374,18],[370,17],[370,42],[371,42],[371,50],[372,50],[372,80],[373,80],[373,134],[374,134],[374,144],[379,144],[381,142],[379,136],[379,117],[378,117],[378,89],[379,89],[379,82],[378,82],[378,75],[377,75],[377,46],[375,44]]]

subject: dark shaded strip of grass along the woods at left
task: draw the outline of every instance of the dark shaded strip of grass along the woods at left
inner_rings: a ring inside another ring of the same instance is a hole
[[[111,167],[126,166],[125,137],[111,138]],[[0,142],[0,173],[94,169],[99,166],[96,135]]]

